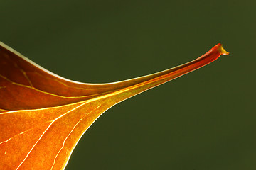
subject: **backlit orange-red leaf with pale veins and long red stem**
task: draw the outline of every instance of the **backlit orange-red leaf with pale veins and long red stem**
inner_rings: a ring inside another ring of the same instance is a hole
[[[71,81],[0,43],[0,169],[65,169],[80,137],[108,108],[228,55],[221,44],[196,60],[109,84]]]

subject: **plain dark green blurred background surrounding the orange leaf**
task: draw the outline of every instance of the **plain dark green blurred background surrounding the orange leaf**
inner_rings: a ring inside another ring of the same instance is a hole
[[[67,169],[256,169],[256,1],[0,1],[0,40],[104,83],[228,56],[104,113]],[[93,73],[93,74],[92,74]]]

